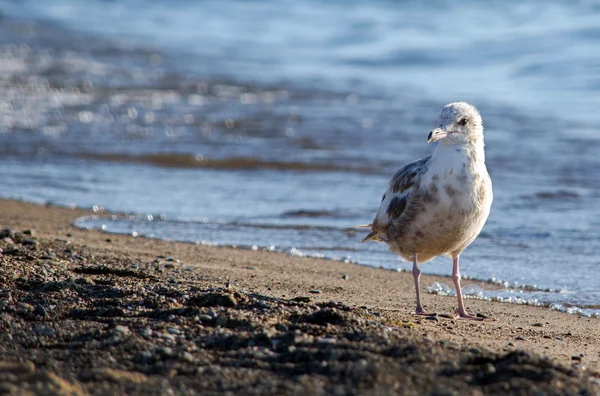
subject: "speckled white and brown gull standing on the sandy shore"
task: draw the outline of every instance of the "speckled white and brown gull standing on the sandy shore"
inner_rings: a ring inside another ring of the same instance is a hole
[[[492,206],[492,181],[485,166],[483,123],[466,102],[444,106],[428,143],[433,154],[400,169],[390,184],[362,240],[385,242],[402,259],[412,261],[417,308],[421,305],[420,263],[445,255],[452,258],[452,281],[458,297],[456,315],[481,320],[465,310],[458,258],[483,228]]]

